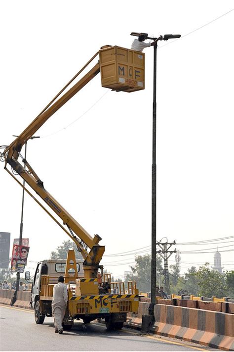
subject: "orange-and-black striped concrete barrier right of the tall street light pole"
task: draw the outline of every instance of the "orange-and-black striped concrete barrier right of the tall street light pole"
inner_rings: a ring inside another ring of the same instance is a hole
[[[151,332],[225,351],[234,350],[234,315],[164,304],[155,305]]]

